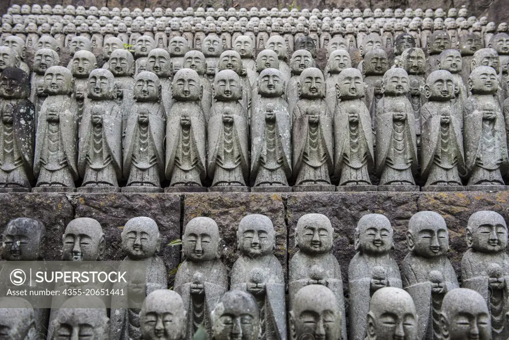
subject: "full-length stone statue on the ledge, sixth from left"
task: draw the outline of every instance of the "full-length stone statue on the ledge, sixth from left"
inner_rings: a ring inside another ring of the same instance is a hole
[[[240,77],[232,70],[215,76],[215,102],[208,121],[207,174],[210,191],[249,191],[248,116],[242,105]]]

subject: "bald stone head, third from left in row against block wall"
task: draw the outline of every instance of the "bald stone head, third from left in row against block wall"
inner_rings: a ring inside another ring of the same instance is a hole
[[[138,79],[136,81],[135,91],[137,87]],[[130,259],[148,259],[155,255],[158,248],[159,229],[153,219],[148,217],[135,217],[127,221],[122,231],[122,250],[124,250]]]

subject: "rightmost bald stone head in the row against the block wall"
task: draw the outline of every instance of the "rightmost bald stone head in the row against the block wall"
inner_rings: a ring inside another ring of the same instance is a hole
[[[475,251],[496,253],[507,248],[507,225],[494,211],[478,211],[468,219],[467,245]]]

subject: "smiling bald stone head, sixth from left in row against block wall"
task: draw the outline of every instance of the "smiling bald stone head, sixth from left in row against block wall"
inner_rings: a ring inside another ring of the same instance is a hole
[[[328,253],[332,249],[334,230],[327,216],[305,214],[295,227],[295,244],[307,254]]]

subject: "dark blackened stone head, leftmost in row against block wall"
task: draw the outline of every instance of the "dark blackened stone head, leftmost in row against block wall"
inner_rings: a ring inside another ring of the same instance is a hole
[[[42,258],[46,229],[38,220],[20,217],[7,223],[2,234],[2,257],[7,261]]]

